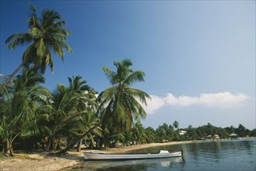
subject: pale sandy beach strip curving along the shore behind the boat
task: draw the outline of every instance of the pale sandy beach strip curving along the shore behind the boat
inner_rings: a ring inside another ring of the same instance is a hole
[[[146,145],[132,145],[117,148],[107,148],[103,150],[82,150],[81,152],[68,152],[68,155],[60,157],[47,156],[47,152],[40,152],[38,154],[19,154],[24,157],[14,156],[3,158],[0,161],[0,171],[7,170],[61,170],[83,160],[84,152],[104,152],[104,153],[125,153],[139,148],[149,148],[163,145],[177,145],[191,143],[193,141],[178,141],[169,143],[152,143]]]

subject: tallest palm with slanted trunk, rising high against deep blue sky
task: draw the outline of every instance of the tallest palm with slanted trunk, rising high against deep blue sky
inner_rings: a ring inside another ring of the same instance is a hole
[[[24,44],[29,45],[23,53],[23,62],[9,76],[5,84],[8,84],[24,65],[33,65],[33,68],[39,70],[42,74],[44,74],[49,65],[51,72],[54,72],[54,62],[51,52],[57,54],[62,61],[64,61],[64,50],[69,53],[72,52],[72,48],[66,44],[70,32],[63,28],[66,23],[61,20],[61,15],[58,12],[48,9],[44,10],[41,13],[42,18],[39,19],[36,9],[32,4],[30,4],[30,11],[30,17],[27,19],[29,32],[12,34],[5,40],[5,44],[9,44],[9,50],[13,50]]]

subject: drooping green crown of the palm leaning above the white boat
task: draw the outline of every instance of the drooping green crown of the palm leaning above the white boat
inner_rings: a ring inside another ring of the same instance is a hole
[[[100,93],[100,106],[107,106],[104,117],[113,121],[117,130],[123,128],[130,130],[133,120],[146,117],[146,111],[141,103],[146,104],[146,99],[150,99],[150,96],[140,89],[131,87],[135,82],[144,82],[145,73],[134,72],[130,68],[132,61],[129,59],[114,61],[114,65],[117,72],[113,72],[107,67],[103,68],[103,72],[112,86]]]

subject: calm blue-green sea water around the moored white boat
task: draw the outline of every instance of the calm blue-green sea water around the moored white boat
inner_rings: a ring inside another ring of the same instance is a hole
[[[256,170],[256,139],[207,141],[143,148],[131,153],[183,149],[184,158],[85,161],[68,170]]]

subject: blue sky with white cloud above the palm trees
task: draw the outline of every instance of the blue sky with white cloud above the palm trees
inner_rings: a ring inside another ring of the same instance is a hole
[[[45,86],[81,75],[98,92],[110,86],[102,67],[130,58],[146,72],[136,84],[152,96],[145,127],[174,120],[255,128],[255,1],[31,1],[37,14],[58,11],[72,32],[72,54],[54,56]],[[27,32],[27,1],[1,1],[0,73],[20,64],[26,47],[8,51],[7,37]]]

